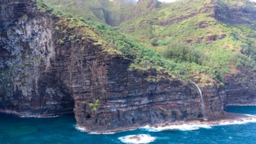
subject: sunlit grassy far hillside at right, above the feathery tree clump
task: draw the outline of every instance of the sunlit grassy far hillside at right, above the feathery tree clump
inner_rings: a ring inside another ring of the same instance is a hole
[[[231,9],[238,7],[253,9],[253,6],[249,6],[250,3],[246,0],[218,0],[218,3],[217,5],[225,4]],[[256,40],[249,37],[256,35],[256,29],[253,22],[252,25],[230,25],[217,21],[213,17],[215,5],[210,0],[160,3],[156,9],[145,11],[139,16],[125,21],[118,28],[121,32],[140,39],[159,38],[158,43],[162,47],[161,50],[174,41],[189,42],[192,47],[203,51],[210,57],[212,61],[210,67],[228,73],[229,64],[232,62],[231,57],[234,54],[243,53],[255,59]],[[250,21],[250,19],[247,20]],[[221,35],[225,35],[225,38],[218,39]],[[217,37],[217,40],[211,39],[214,36]],[[248,67],[254,68],[253,66]]]

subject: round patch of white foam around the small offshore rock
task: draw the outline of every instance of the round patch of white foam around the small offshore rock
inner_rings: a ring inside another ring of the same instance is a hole
[[[150,143],[156,140],[156,137],[152,137],[148,134],[138,134],[138,135],[128,135],[118,138],[123,143],[130,144],[140,144],[140,143]]]

